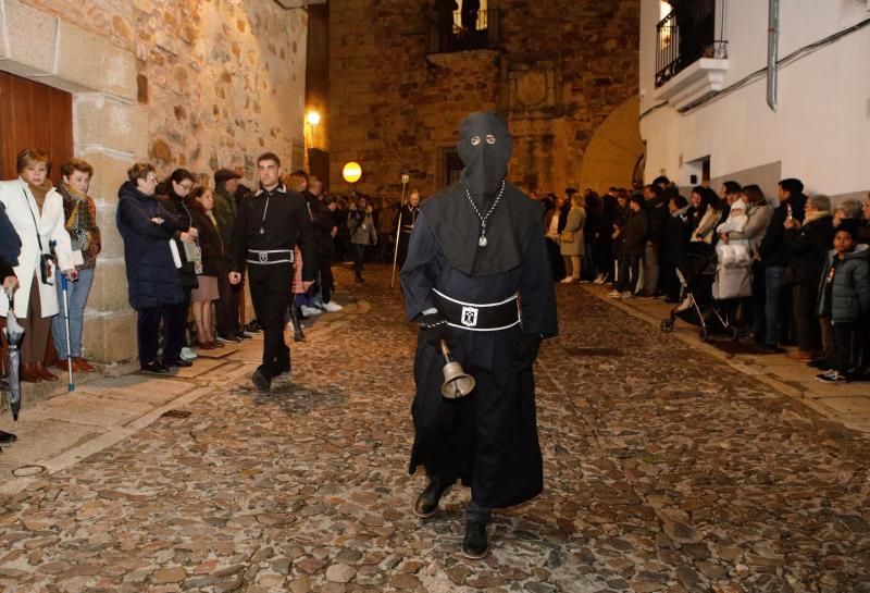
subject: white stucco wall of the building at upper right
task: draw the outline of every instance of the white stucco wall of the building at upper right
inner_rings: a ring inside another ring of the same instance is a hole
[[[723,88],[765,66],[767,10],[762,0],[726,3],[730,66]],[[642,114],[661,102],[655,98],[658,17],[658,0],[643,0]],[[779,57],[867,18],[866,0],[781,2]],[[721,4],[717,37],[720,25]],[[783,177],[798,177],[812,192],[869,189],[870,26],[781,67],[776,112],[767,106],[766,84],[761,76],[687,113],[671,106],[647,113],[641,122],[646,176],[664,172],[686,184],[684,163],[709,156],[713,178],[780,162]]]

